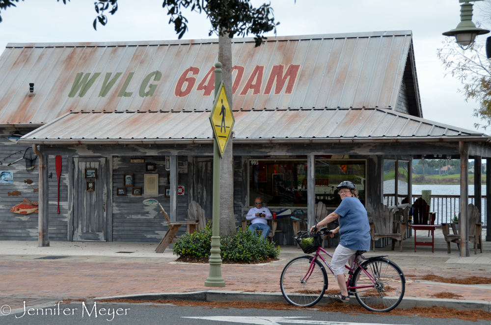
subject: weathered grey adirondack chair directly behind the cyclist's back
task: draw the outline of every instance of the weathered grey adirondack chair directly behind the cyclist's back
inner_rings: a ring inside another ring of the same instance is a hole
[[[406,214],[407,216],[407,214]],[[406,233],[406,220],[400,221],[394,218],[394,213],[383,205],[378,204],[372,214],[373,222],[370,223],[370,236],[372,237],[372,248],[375,251],[375,241],[381,238],[392,238],[392,250],[395,242],[399,241],[399,251],[402,252],[402,241]]]

